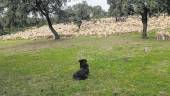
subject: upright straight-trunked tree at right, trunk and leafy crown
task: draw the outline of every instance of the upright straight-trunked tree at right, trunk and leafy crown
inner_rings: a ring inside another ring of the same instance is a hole
[[[133,11],[136,14],[141,15],[141,20],[143,23],[142,38],[146,39],[148,38],[148,17],[149,15],[155,15],[162,11],[162,4],[160,5],[160,0],[131,0],[130,4],[133,6]]]

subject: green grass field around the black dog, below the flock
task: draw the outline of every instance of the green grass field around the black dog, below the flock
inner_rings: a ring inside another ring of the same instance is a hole
[[[88,59],[90,76],[79,82],[72,74],[81,58]],[[0,41],[0,96],[169,95],[170,41],[137,33]]]

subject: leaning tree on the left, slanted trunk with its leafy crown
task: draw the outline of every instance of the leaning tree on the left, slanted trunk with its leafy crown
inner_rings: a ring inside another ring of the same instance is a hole
[[[25,0],[23,0],[23,2],[24,1]],[[55,36],[55,39],[59,39],[60,36],[52,26],[50,15],[54,13],[59,14],[62,5],[65,2],[67,2],[67,0],[27,0],[26,6],[29,12],[39,12],[42,16],[44,16],[48,22],[51,32]]]

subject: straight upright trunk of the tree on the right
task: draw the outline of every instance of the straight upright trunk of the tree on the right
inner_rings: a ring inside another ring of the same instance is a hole
[[[148,27],[148,9],[145,7],[143,10],[144,10],[143,13],[141,13],[141,15],[142,15],[142,23],[143,23],[142,38],[143,38],[143,39],[147,39],[147,38],[148,38],[148,34],[147,34],[147,27]]]

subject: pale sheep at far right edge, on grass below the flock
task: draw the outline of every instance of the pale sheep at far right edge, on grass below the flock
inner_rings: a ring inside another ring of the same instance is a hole
[[[157,40],[169,40],[170,39],[170,33],[169,32],[157,32],[156,33],[156,39]]]

